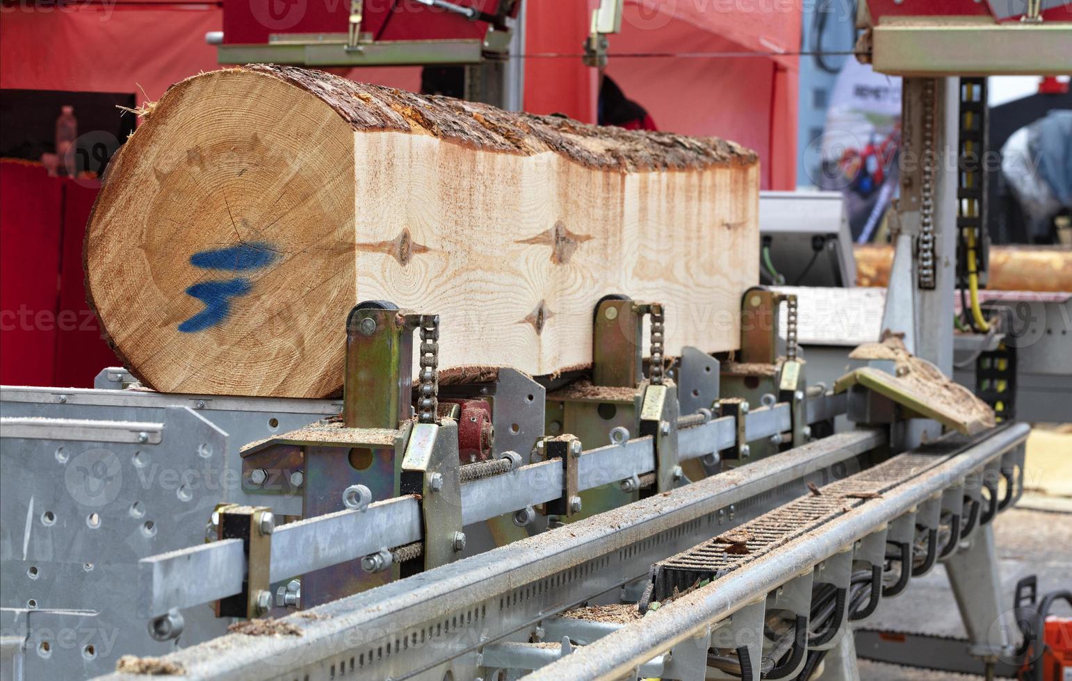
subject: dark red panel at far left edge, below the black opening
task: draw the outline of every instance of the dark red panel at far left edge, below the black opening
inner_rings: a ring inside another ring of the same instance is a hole
[[[62,196],[39,165],[0,162],[0,383],[51,385]]]

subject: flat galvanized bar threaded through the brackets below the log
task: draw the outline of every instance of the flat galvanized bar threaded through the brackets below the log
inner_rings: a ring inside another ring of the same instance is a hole
[[[817,421],[844,411],[844,395],[807,399]],[[714,419],[679,430],[680,460],[699,458],[733,447],[733,417]],[[790,429],[787,404],[763,407],[745,414],[749,441]],[[643,475],[655,470],[651,437],[609,444],[583,452],[578,461],[578,489]],[[501,475],[466,482],[461,486],[462,524],[470,525],[535,506],[562,496],[563,469],[554,461],[522,466]],[[421,518],[417,500],[398,497],[370,504],[362,511],[339,511],[280,526],[271,541],[270,579],[273,582],[303,575],[384,548],[420,541]],[[159,617],[172,608],[185,608],[241,592],[247,572],[241,543],[213,542],[152,556],[139,561],[139,617]]]

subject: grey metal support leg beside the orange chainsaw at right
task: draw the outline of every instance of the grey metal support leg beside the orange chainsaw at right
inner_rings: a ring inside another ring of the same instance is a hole
[[[994,527],[984,525],[977,529],[968,547],[946,561],[946,571],[968,633],[971,653],[980,657],[1008,654],[1009,632],[1002,622],[1004,612]]]

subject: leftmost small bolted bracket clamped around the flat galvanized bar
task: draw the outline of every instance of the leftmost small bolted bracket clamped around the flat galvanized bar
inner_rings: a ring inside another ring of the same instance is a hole
[[[217,617],[244,617],[253,619],[271,609],[271,535],[276,530],[276,516],[268,506],[240,506],[223,504],[217,509],[220,540],[242,540],[247,574],[242,591],[215,602]]]

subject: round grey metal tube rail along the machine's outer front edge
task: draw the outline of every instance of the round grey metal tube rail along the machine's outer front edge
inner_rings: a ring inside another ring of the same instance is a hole
[[[935,493],[940,493],[1027,438],[1024,423],[995,433],[982,442],[950,456],[943,464],[899,485],[864,506],[828,523],[821,532],[798,539],[756,560],[747,578],[731,574],[673,601],[643,619],[624,625],[598,644],[584,647],[560,662],[542,667],[533,681],[557,679],[617,679],[660,652],[765,595],[803,570],[833,556],[885,523],[897,518]]]

